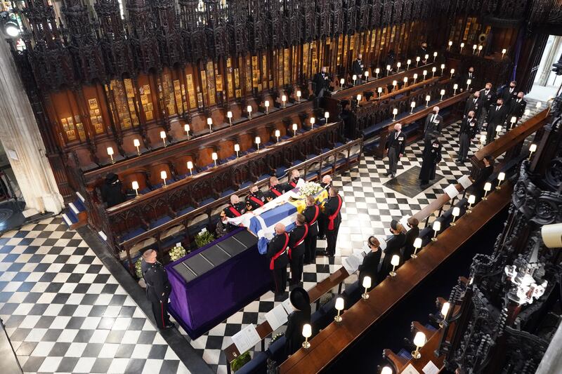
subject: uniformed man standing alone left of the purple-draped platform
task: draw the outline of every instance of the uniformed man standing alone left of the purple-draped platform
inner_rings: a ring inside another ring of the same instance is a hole
[[[141,271],[146,283],[146,298],[152,303],[152,313],[156,326],[160,329],[172,328],[168,315],[168,298],[171,293],[171,284],[168,281],[166,269],[156,261],[156,251],[148,249],[143,253]]]

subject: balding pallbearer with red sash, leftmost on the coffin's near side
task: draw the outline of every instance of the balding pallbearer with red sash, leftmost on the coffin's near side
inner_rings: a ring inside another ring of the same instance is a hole
[[[289,263],[289,234],[285,232],[285,225],[275,225],[275,236],[268,243],[266,253],[269,259],[269,269],[273,274],[275,295],[282,296],[287,288],[287,264]]]

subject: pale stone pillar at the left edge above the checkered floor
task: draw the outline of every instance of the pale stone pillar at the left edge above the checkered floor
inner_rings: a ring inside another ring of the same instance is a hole
[[[0,142],[6,149],[27,208],[60,213],[63,196],[8,43],[0,40]]]

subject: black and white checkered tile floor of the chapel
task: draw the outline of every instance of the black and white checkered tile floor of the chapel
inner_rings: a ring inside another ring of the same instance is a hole
[[[534,101],[528,107],[536,112]],[[414,198],[383,186],[389,180],[384,177],[386,159],[367,156],[358,168],[334,178],[344,196],[336,256],[306,265],[304,288],[339,269],[342,256],[362,247],[367,236],[385,236],[393,218],[419,211],[469,173],[468,162],[455,162],[458,131],[459,123],[454,123],[443,133],[438,173],[445,178]],[[475,141],[469,156],[476,149]],[[421,151],[421,142],[407,147],[398,174],[419,166]],[[325,245],[318,241],[318,248]],[[346,283],[355,280],[353,275]],[[232,343],[230,337],[244,325],[264,321],[276,303],[268,292],[197,340],[180,331],[212,371],[226,373],[222,349]],[[0,318],[26,373],[189,373],[117,279],[60,217],[1,236]]]

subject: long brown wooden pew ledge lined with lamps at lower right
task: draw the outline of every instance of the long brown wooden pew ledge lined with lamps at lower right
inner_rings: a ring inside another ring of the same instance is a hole
[[[405,295],[426,278],[447,258],[480,230],[496,213],[511,200],[513,186],[510,182],[504,188],[493,192],[487,201],[473,208],[470,220],[464,218],[462,225],[449,227],[439,240],[428,243],[415,261],[407,261],[396,272],[394,278],[387,278],[370,291],[370,298],[359,300],[346,310],[341,323],[330,323],[318,333],[308,350],[299,349],[281,364],[280,373],[318,373],[320,370],[349,347],[374,323],[380,321]],[[461,218],[461,220],[463,219]]]

